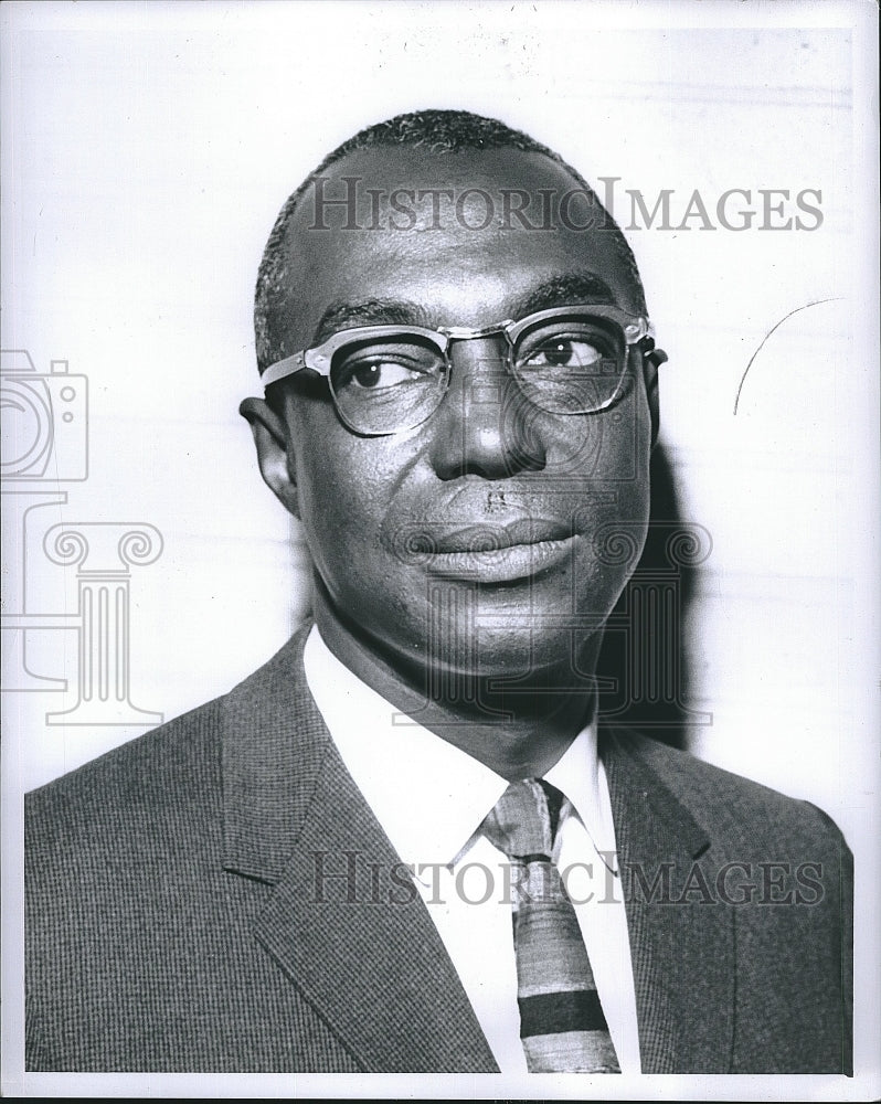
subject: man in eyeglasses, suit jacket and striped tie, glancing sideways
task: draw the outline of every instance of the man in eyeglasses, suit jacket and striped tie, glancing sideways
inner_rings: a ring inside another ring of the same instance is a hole
[[[29,1068],[845,1071],[840,834],[596,713],[664,354],[593,193],[389,120],[285,205],[255,318],[315,624],[31,796]]]

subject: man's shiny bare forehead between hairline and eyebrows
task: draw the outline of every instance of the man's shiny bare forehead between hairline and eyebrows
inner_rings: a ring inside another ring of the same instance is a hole
[[[637,309],[615,235],[577,229],[602,210],[541,153],[359,150],[322,176],[286,241],[290,348],[312,341],[329,311],[375,300],[413,304],[428,325],[492,325],[570,277],[598,277],[613,301]]]

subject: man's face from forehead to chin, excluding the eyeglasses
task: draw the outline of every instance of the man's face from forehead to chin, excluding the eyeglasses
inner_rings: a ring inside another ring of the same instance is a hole
[[[500,189],[526,190],[538,212],[540,189],[575,187],[540,155],[367,150],[327,176],[328,198],[359,178],[363,229],[344,229],[342,209],[325,214],[332,229],[312,229],[306,193],[288,238],[287,353],[385,321],[476,329],[582,302],[639,312],[609,232],[501,224]],[[461,217],[455,200],[439,219],[426,201],[416,226],[393,229],[368,191],[442,188],[482,189],[493,222],[469,229],[487,211],[473,194]],[[573,216],[584,221],[583,204]],[[577,662],[573,641],[596,636],[643,546],[651,420],[639,354],[622,400],[587,415],[531,405],[503,354],[498,336],[454,342],[440,406],[390,436],[353,434],[329,396],[286,393],[283,499],[333,605],[393,661],[506,676]]]

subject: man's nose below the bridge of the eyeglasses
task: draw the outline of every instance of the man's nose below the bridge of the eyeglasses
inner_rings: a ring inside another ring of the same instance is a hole
[[[501,337],[454,340],[450,380],[431,420],[432,465],[440,479],[506,479],[545,465],[537,408],[508,370]]]

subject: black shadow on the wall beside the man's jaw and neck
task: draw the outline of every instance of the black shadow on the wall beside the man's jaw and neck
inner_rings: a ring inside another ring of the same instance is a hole
[[[688,750],[707,713],[686,705],[689,609],[697,573],[712,551],[710,533],[684,522],[672,467],[662,445],[651,457],[649,534],[630,582],[609,617],[597,665],[606,720]]]

